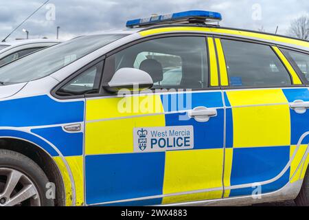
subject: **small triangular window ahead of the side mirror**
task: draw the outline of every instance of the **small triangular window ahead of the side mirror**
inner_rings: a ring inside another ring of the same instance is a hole
[[[84,94],[96,94],[100,90],[103,61],[85,70],[76,78],[58,89],[58,96],[78,96]]]

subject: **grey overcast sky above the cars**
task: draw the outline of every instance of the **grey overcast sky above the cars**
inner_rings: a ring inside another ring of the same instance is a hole
[[[46,0],[0,0],[0,38]],[[69,39],[84,33],[124,29],[126,20],[184,10],[212,10],[222,14],[222,26],[286,34],[290,21],[308,14],[308,0],[50,0],[24,23],[10,40],[47,36]]]

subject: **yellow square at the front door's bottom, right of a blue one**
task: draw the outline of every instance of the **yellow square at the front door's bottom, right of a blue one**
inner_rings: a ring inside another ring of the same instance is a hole
[[[163,194],[222,188],[223,149],[167,151]],[[216,192],[215,192],[216,191]],[[163,203],[218,199],[222,190],[163,197]]]

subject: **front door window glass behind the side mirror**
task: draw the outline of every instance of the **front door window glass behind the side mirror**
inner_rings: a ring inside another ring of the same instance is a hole
[[[131,67],[150,74],[153,88],[199,89],[208,86],[206,39],[174,36],[145,41],[106,59],[111,80],[117,69]],[[112,64],[111,64],[112,63]],[[104,75],[106,71],[104,70]]]

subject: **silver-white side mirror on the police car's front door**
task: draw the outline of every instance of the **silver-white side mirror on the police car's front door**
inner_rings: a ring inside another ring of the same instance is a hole
[[[103,88],[110,92],[117,92],[120,89],[130,89],[131,91],[141,91],[149,89],[153,85],[151,76],[135,68],[121,68],[115,72],[109,83]]]

